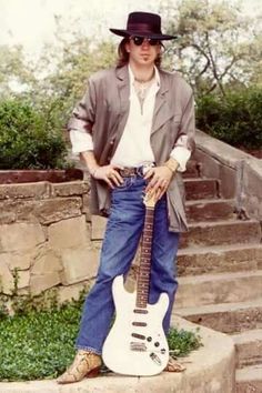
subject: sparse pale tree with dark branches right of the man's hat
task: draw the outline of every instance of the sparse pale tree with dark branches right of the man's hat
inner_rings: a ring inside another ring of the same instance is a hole
[[[190,82],[195,95],[225,94],[225,84],[261,81],[261,16],[246,16],[240,1],[165,0],[161,14],[175,44],[168,43],[173,68]],[[255,78],[254,78],[255,77]]]

